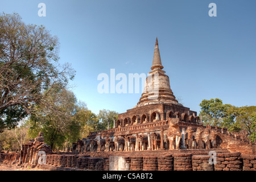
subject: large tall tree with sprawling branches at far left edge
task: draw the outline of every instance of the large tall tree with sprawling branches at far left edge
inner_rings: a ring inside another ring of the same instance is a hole
[[[0,129],[14,128],[74,71],[59,65],[59,40],[18,14],[0,14]]]

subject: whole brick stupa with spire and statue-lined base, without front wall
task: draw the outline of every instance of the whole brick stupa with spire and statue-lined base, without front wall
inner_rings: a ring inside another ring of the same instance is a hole
[[[119,114],[116,122],[114,118],[113,129],[90,133],[82,139],[84,142],[77,142],[77,151],[225,148],[255,154],[255,143],[247,139],[246,131],[230,133],[224,128],[203,126],[196,111],[176,100],[163,68],[156,38],[151,71],[138,104]]]

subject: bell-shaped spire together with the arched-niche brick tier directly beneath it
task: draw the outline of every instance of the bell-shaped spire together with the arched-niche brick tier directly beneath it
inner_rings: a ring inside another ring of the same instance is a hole
[[[126,113],[118,115],[116,127],[163,121],[170,117],[200,124],[196,112],[179,104],[175,99],[169,77],[163,71],[157,38],[151,71],[148,73],[149,76],[145,81],[144,91],[138,104]]]

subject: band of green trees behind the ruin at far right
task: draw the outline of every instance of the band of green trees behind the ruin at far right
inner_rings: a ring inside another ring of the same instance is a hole
[[[222,104],[218,98],[203,100],[200,104],[203,123],[227,127],[229,131],[246,130],[252,141],[256,139],[256,106],[236,107]]]

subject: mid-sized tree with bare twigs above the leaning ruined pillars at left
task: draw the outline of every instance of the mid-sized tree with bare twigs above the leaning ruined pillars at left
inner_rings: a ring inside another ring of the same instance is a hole
[[[31,115],[30,133],[43,131],[44,141],[52,149],[62,147],[70,132],[75,111],[76,97],[73,92],[67,89],[55,90],[47,97],[47,102],[36,106],[36,113]]]

